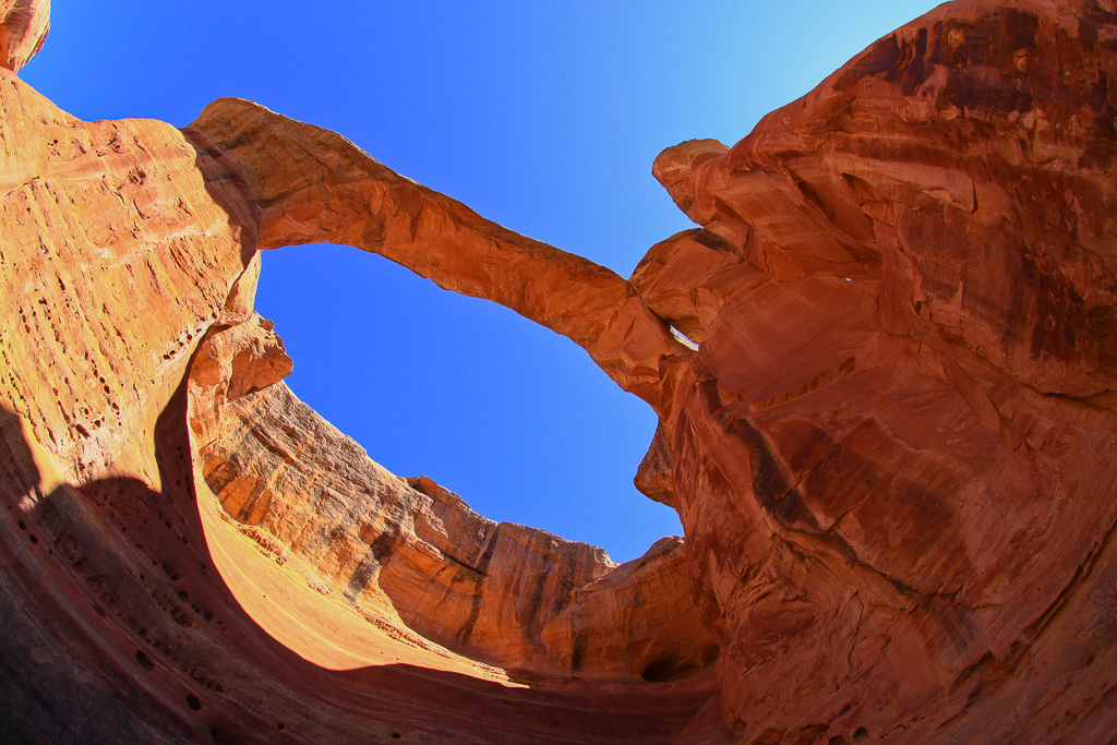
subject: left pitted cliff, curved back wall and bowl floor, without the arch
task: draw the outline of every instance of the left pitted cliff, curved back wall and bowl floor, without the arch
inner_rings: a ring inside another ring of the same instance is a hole
[[[78,122],[0,76],[0,739],[687,726],[716,646],[677,548],[610,572],[383,471],[277,382],[251,216],[214,201],[217,166],[169,125]],[[633,614],[633,593],[659,600]]]

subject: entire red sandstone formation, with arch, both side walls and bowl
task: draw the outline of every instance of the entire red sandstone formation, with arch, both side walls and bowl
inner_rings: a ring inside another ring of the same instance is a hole
[[[700,227],[624,280],[248,102],[0,73],[0,733],[1113,739],[1115,79],[1111,0],[942,6],[665,151]],[[686,541],[613,566],[376,466],[251,311],[312,241],[586,348]]]

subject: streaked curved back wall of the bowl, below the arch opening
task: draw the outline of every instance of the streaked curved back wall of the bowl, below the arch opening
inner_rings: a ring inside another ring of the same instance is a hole
[[[596,674],[624,687],[709,665],[717,647],[689,601],[681,539],[615,566],[389,474],[278,383],[290,360],[269,326],[257,316],[211,332],[190,372],[199,489],[232,519],[355,606],[521,679]]]

